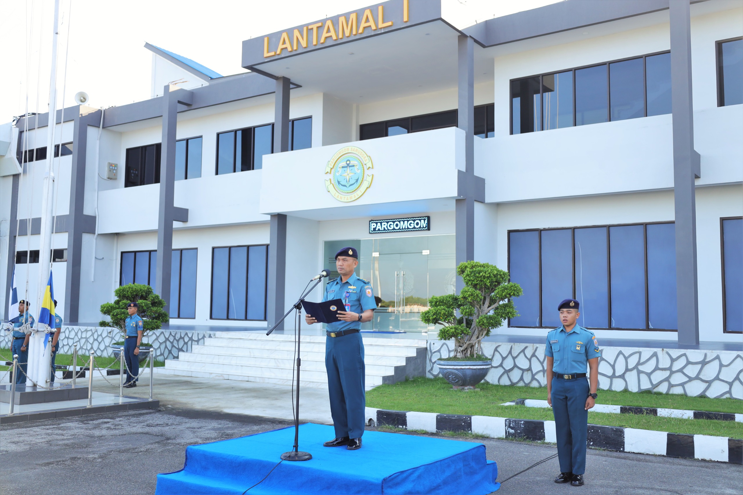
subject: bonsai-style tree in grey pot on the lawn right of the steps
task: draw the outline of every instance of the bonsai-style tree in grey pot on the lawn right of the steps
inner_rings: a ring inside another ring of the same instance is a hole
[[[455,389],[473,389],[490,371],[492,359],[482,354],[482,339],[518,316],[513,298],[522,294],[519,284],[508,282],[508,272],[490,263],[462,262],[457,274],[464,280],[459,295],[434,296],[421,321],[441,325],[438,340],[454,339],[451,357],[436,360],[438,369]]]

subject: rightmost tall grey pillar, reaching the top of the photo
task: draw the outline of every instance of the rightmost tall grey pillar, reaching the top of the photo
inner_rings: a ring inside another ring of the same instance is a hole
[[[678,343],[699,343],[692,56],[689,1],[669,2]]]

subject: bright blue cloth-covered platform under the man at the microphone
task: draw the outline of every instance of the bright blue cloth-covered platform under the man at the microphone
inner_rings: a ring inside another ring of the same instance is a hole
[[[470,441],[367,431],[360,450],[322,447],[331,426],[302,424],[299,450],[304,462],[282,462],[246,495],[385,494],[487,495],[498,490],[498,467],[485,446]],[[241,495],[291,450],[294,428],[239,439],[191,445],[186,464],[158,474],[156,495]]]

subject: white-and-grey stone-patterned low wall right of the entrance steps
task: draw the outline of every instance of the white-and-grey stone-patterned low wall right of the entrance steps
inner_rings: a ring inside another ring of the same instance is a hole
[[[429,341],[426,376],[441,376],[435,361],[449,357],[453,348],[452,341]],[[493,359],[489,383],[545,386],[544,344],[484,342],[482,350]],[[603,347],[599,389],[743,399],[743,353]]]

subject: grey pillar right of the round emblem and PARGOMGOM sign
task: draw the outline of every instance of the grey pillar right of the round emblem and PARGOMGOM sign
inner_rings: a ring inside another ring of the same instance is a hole
[[[459,173],[459,198],[455,201],[455,262],[475,258],[475,44],[470,36],[457,39],[458,111],[457,126],[464,131],[464,174]],[[456,291],[464,282],[456,278]]]

